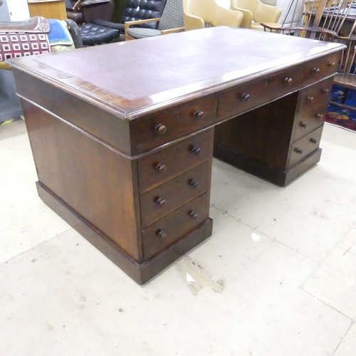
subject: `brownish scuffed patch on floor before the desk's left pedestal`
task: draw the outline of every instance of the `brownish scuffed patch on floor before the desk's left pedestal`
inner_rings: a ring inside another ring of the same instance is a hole
[[[177,269],[194,295],[197,295],[199,290],[204,287],[209,287],[217,293],[222,293],[225,289],[226,281],[223,278],[213,281],[209,274],[204,271],[204,268],[188,256],[184,256],[177,262]]]

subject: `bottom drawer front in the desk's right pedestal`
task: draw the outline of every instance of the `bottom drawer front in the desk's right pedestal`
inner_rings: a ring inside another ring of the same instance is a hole
[[[292,167],[305,156],[308,156],[311,152],[318,149],[322,132],[323,126],[293,143],[290,148],[288,167]]]

